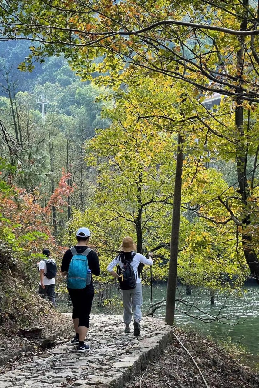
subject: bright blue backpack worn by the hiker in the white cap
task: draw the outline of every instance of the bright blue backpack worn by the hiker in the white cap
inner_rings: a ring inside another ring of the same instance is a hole
[[[78,253],[75,247],[70,248],[73,257],[68,267],[68,288],[82,289],[86,287],[89,269],[87,255],[91,250],[91,248],[86,248],[82,253]]]

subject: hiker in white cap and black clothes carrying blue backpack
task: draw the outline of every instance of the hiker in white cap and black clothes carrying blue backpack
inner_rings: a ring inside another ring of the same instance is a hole
[[[90,312],[94,298],[92,274],[100,275],[100,264],[97,253],[88,247],[90,230],[80,228],[76,232],[77,244],[68,249],[63,256],[61,273],[67,276],[67,288],[73,305],[73,324],[75,338],[71,345],[77,345],[77,352],[90,349],[84,343],[89,329]]]

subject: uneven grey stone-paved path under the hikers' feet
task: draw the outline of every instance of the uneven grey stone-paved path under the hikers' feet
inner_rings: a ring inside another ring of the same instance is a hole
[[[89,352],[76,353],[67,343],[34,357],[0,376],[0,388],[122,388],[158,355],[172,338],[162,320],[144,317],[141,335],[124,334],[122,316],[92,315],[86,342]]]

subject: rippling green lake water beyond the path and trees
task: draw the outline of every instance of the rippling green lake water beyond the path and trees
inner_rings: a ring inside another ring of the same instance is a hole
[[[247,291],[246,291],[247,290]],[[116,307],[107,305],[98,307],[97,295],[94,298],[92,312],[95,314],[122,314],[121,296],[116,288],[109,290],[112,298],[118,298]],[[241,361],[252,369],[259,371],[259,286],[244,286],[242,296],[235,294],[215,294],[215,304],[210,304],[210,293],[202,288],[192,288],[191,295],[186,295],[185,286],[177,285],[177,297],[181,297],[188,306],[179,303],[177,308],[189,315],[196,315],[200,319],[213,319],[211,316],[218,316],[222,322],[205,323],[201,320],[189,317],[183,312],[176,311],[175,324],[180,327],[193,328],[198,333],[210,335],[216,341],[223,340],[235,343],[242,343],[247,347],[250,356],[242,356]],[[153,304],[166,298],[167,285],[164,283],[153,285]],[[107,295],[106,295],[107,296]],[[165,303],[165,302],[164,302]],[[68,300],[58,300],[57,304],[62,310],[71,311],[71,304]],[[194,304],[199,308],[190,307]],[[143,286],[143,315],[151,305],[151,289]],[[203,312],[207,314],[203,314]],[[154,317],[165,317],[165,307],[156,310]],[[238,323],[238,324],[237,324]],[[234,325],[235,324],[235,325]]]

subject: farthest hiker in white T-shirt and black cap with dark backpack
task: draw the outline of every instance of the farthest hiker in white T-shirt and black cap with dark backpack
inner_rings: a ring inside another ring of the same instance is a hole
[[[55,261],[50,258],[49,249],[43,249],[42,254],[45,255],[46,258],[44,260],[40,260],[38,267],[40,272],[38,294],[43,299],[46,299],[46,295],[48,295],[49,301],[53,303],[54,307],[56,307],[55,277],[57,274],[57,266]]]

